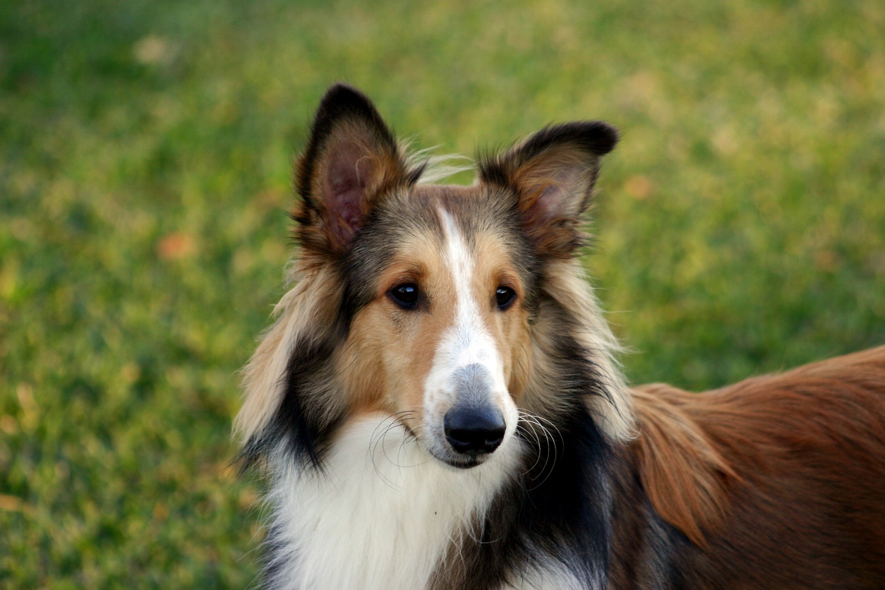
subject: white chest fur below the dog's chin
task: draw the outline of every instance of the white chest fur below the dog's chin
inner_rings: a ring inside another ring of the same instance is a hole
[[[346,426],[325,472],[276,465],[272,585],[427,587],[451,540],[487,509],[518,457],[511,438],[485,464],[459,470],[428,456],[390,418]]]

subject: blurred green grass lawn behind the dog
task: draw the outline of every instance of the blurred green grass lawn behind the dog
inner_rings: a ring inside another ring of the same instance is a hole
[[[885,4],[0,3],[0,586],[249,586],[238,368],[328,84],[472,155],[605,119],[634,382],[885,341]],[[469,179],[464,179],[469,180]]]

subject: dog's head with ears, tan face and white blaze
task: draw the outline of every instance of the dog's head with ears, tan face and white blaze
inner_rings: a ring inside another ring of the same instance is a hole
[[[568,315],[560,308],[572,303],[552,301],[548,283],[573,263],[600,158],[616,142],[600,122],[550,126],[482,159],[472,186],[422,184],[425,166],[366,96],[330,88],[296,168],[301,283],[280,320],[288,327],[247,368],[242,428],[279,422],[274,408],[295,395],[286,411],[314,441],[382,412],[445,464],[493,456],[519,409],[539,403],[528,398],[556,404],[544,376],[559,376],[543,356],[557,334],[537,324]],[[288,385],[264,384],[282,391],[253,393],[261,372],[284,364]]]

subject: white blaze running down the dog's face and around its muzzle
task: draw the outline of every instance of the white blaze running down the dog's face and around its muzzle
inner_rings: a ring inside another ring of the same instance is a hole
[[[427,443],[431,452],[446,449],[443,453],[450,454],[443,432],[443,418],[458,402],[456,373],[467,365],[480,364],[488,371],[489,405],[501,410],[507,423],[503,446],[516,430],[518,411],[507,391],[504,363],[495,339],[482,320],[483,311],[489,312],[494,292],[485,294],[475,288],[477,277],[473,254],[454,218],[443,209],[438,212],[445,239],[443,261],[451,274],[456,301],[454,320],[439,341],[424,383],[424,424],[430,435]]]

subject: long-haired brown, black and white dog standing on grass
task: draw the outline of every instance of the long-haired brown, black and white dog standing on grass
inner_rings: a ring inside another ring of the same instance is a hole
[[[235,425],[266,586],[885,588],[885,347],[627,387],[577,259],[617,140],[548,126],[432,184],[327,91]]]

